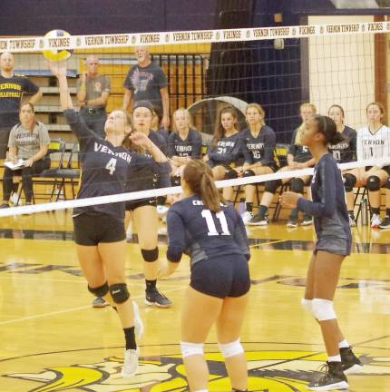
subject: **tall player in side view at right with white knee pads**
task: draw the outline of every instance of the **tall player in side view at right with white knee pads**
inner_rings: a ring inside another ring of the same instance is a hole
[[[351,251],[352,237],[344,191],[344,181],[329,144],[343,142],[335,122],[317,115],[309,122],[302,136],[316,161],[311,190],[313,201],[301,194],[284,192],[283,206],[297,208],[314,217],[317,242],[307,270],[303,307],[317,319],[327,348],[327,372],[317,382],[308,385],[314,391],[348,387],[346,374],[360,370],[356,358],[338,327],[333,307],[337,281],[343,260]]]

